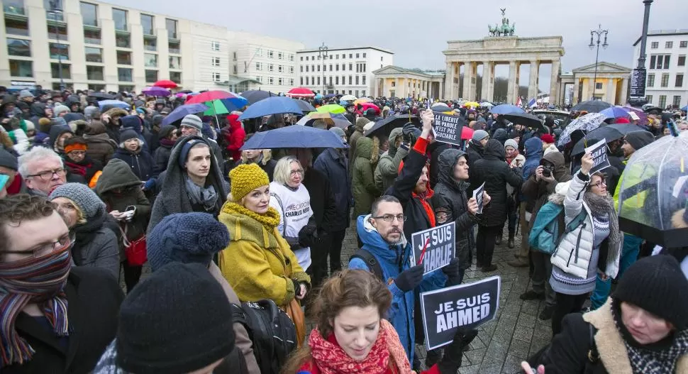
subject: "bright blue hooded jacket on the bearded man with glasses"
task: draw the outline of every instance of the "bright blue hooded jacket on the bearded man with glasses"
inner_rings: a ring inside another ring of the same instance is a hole
[[[406,224],[406,223],[404,223]],[[387,321],[392,323],[401,345],[404,346],[409,362],[414,362],[414,348],[416,328],[414,326],[414,295],[415,291],[437,290],[445,286],[447,276],[440,270],[423,275],[423,281],[416,290],[404,292],[396,287],[393,280],[406,269],[411,268],[411,243],[404,240],[401,244],[391,245],[370,224],[370,214],[358,216],[356,221],[358,238],[363,243],[362,248],[368,251],[382,268],[382,276],[387,289],[392,293],[392,306],[387,311]],[[367,263],[360,258],[352,258],[348,268],[371,271]]]

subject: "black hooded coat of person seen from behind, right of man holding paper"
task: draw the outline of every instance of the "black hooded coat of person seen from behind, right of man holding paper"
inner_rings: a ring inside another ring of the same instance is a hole
[[[502,226],[506,221],[507,193],[506,183],[515,189],[521,188],[520,170],[511,169],[506,165],[506,152],[504,145],[499,141],[490,139],[485,147],[484,158],[477,160],[472,168],[469,168],[471,183],[475,180],[475,187],[485,183],[485,191],[492,198],[482,210],[480,226]]]

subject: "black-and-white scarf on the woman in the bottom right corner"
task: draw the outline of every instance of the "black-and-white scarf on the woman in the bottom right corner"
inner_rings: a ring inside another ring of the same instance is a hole
[[[678,359],[688,353],[688,330],[675,331],[656,343],[640,345],[621,321],[621,302],[612,299],[611,313],[623,336],[634,374],[675,373]]]

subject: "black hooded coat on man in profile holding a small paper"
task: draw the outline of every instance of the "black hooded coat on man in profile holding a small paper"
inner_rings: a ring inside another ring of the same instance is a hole
[[[433,208],[437,224],[456,222],[456,257],[462,269],[470,268],[475,240],[472,227],[478,223],[478,217],[468,212],[466,189],[468,182],[457,182],[452,177],[456,161],[465,153],[462,150],[448,149],[438,158],[439,181],[433,194]],[[446,216],[440,219],[440,216]]]

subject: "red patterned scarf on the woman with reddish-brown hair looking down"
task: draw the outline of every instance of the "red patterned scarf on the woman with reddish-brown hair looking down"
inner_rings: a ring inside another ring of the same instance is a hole
[[[323,339],[318,329],[313,329],[309,336],[309,346],[318,369],[323,374],[340,373],[387,373],[390,365],[398,368],[398,373],[411,373],[411,365],[406,358],[404,348],[399,344],[394,327],[387,320],[380,320],[377,340],[370,353],[363,361],[355,361],[339,346],[334,334]],[[393,362],[390,362],[392,359]]]

